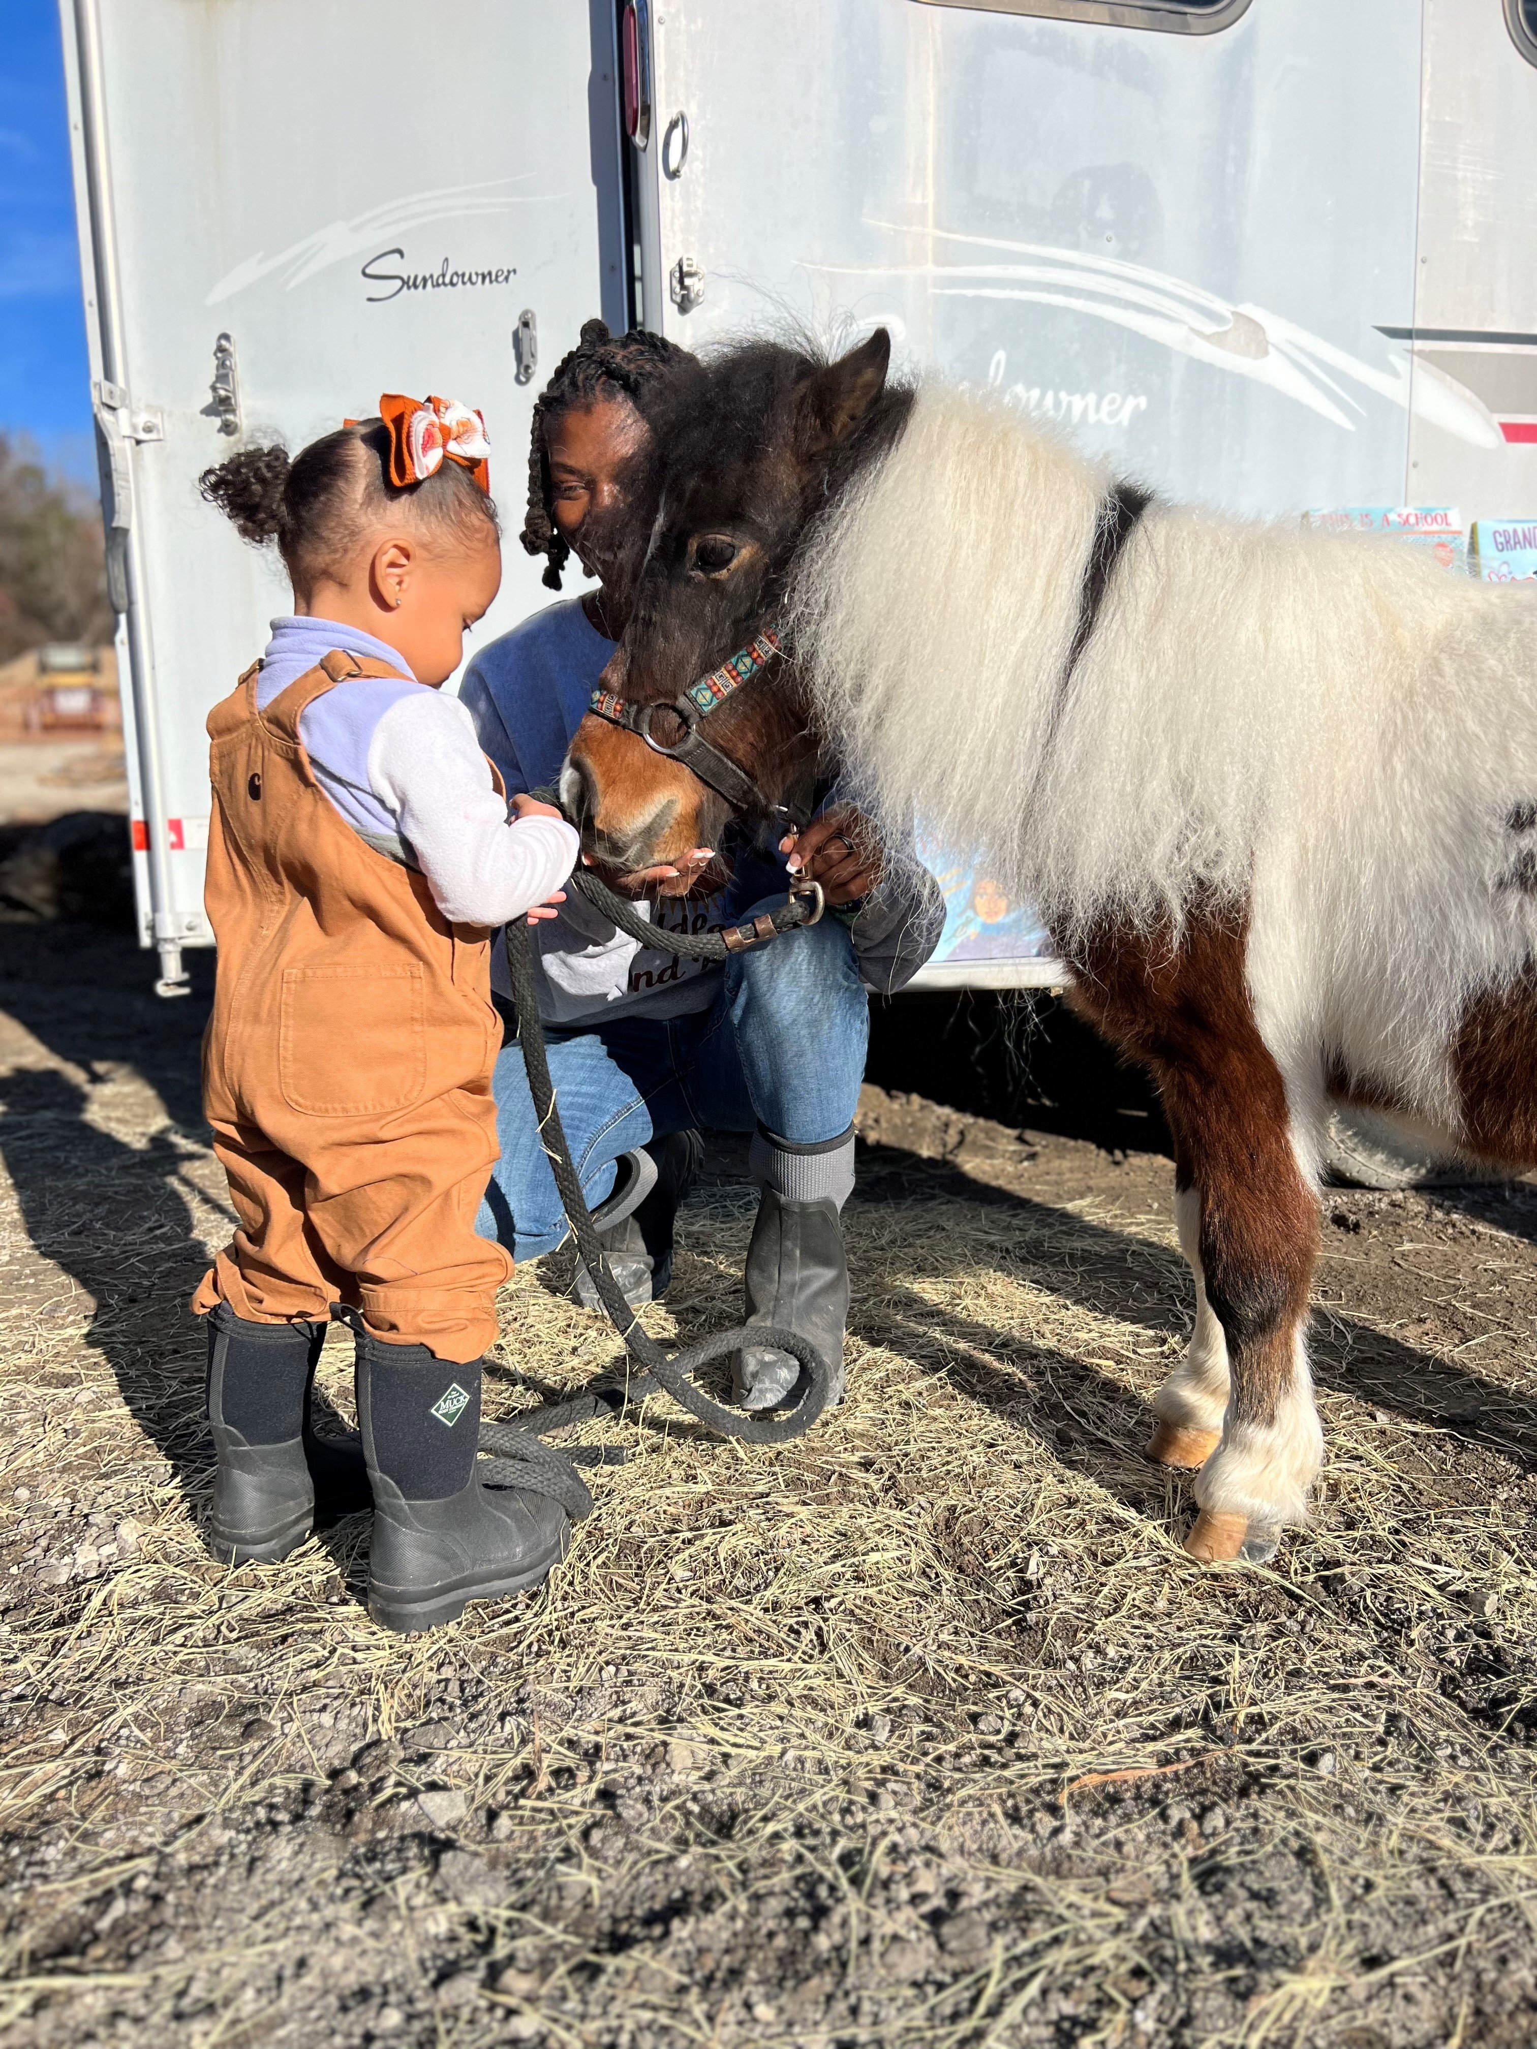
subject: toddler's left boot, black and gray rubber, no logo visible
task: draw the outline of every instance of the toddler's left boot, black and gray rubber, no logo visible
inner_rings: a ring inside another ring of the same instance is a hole
[[[248,1324],[223,1301],[209,1315],[207,1416],[219,1455],[209,1545],[234,1565],[271,1565],[316,1522],[371,1502],[361,1438],[316,1436],[309,1422],[326,1330]]]

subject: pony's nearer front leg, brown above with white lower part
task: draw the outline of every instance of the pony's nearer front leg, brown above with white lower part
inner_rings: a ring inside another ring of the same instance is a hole
[[[1234,1080],[1244,1082],[1242,1068]],[[1197,1256],[1232,1375],[1185,1549],[1205,1561],[1258,1563],[1275,1555],[1283,1529],[1305,1522],[1324,1463],[1303,1342],[1318,1197],[1297,1166],[1279,1086],[1250,1094],[1172,1072],[1166,1096],[1191,1160]]]

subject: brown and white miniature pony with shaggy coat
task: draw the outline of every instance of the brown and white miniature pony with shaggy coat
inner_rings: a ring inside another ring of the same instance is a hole
[[[1537,607],[1164,504],[1100,574],[1105,469],[988,395],[889,389],[887,354],[707,369],[609,686],[664,701],[789,609],[795,664],[719,715],[734,760],[785,775],[820,727],[885,820],[1041,906],[1174,1135],[1197,1324],[1152,1455],[1201,1467],[1197,1557],[1266,1557],[1322,1457],[1328,1098],[1537,1166]],[[723,809],[598,719],[572,777],[594,850],[672,859]]]

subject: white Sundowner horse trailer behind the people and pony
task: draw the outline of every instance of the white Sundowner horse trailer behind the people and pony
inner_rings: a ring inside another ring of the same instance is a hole
[[[1234,510],[1537,520],[1537,0],[61,0],[143,943],[285,604],[242,436],[482,406],[514,533],[580,322],[1000,385]],[[1445,520],[1443,520],[1445,525]],[[1029,535],[1021,535],[1029,547]],[[486,629],[543,602],[510,541]],[[1051,981],[951,863],[928,986]]]

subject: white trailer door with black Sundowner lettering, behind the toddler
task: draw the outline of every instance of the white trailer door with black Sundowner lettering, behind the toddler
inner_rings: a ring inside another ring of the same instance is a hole
[[[609,0],[61,0],[143,943],[207,945],[203,721],[289,611],[199,500],[381,391],[482,408],[514,537],[533,395],[625,320]],[[516,539],[480,627],[543,598]],[[127,695],[127,693],[125,693]]]

